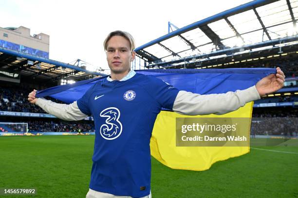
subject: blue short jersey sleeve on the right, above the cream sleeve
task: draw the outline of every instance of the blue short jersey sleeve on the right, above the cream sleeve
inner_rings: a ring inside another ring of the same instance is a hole
[[[149,91],[163,108],[172,110],[179,89],[156,77],[150,77]]]

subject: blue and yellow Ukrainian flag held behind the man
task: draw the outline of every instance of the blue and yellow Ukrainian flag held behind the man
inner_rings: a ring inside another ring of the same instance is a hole
[[[137,73],[154,75],[180,90],[197,94],[221,94],[255,85],[263,77],[276,73],[272,68],[228,69],[148,69]],[[80,99],[97,81],[90,79],[74,84],[51,87],[37,92],[37,98],[50,96],[66,103]],[[157,116],[150,141],[151,155],[168,167],[186,170],[206,170],[218,161],[237,157],[249,152],[243,147],[176,147],[176,117],[223,117],[251,119],[253,102],[225,115],[187,116],[162,110]],[[249,129],[248,129],[249,130]]]

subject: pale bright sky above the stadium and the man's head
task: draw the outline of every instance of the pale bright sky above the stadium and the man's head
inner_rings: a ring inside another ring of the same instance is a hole
[[[50,35],[49,58],[80,59],[88,69],[107,69],[103,41],[115,30],[129,32],[136,47],[251,0],[0,0],[0,27],[24,26]],[[3,20],[4,19],[4,20]]]

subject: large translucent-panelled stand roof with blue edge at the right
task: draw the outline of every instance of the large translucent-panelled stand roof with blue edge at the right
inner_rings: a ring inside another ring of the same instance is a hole
[[[177,29],[135,51],[148,68],[173,68],[186,61],[293,45],[298,41],[297,19],[298,0],[254,0]]]

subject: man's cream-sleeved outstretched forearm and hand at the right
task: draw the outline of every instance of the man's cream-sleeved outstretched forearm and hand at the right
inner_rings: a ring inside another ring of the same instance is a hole
[[[180,91],[173,104],[173,111],[183,115],[226,114],[239,109],[247,102],[260,99],[260,96],[276,92],[283,87],[284,78],[278,67],[277,74],[270,74],[245,90],[209,95]]]

